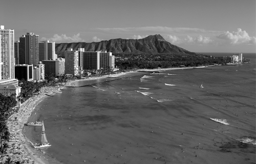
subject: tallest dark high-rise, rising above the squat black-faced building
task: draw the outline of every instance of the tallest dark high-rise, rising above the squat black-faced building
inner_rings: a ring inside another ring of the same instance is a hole
[[[19,38],[19,64],[37,66],[39,62],[39,36],[27,33]]]

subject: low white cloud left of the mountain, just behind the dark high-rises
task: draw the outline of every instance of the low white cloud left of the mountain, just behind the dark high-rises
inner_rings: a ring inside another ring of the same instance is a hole
[[[80,38],[80,34],[73,35],[72,37],[68,37],[66,34],[54,34],[52,38],[42,37],[41,41],[49,40],[51,42],[83,42],[84,40]]]

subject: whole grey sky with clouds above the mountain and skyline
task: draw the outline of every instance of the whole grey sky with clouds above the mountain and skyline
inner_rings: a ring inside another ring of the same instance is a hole
[[[255,0],[1,0],[0,25],[55,43],[160,34],[192,52],[256,51]]]

